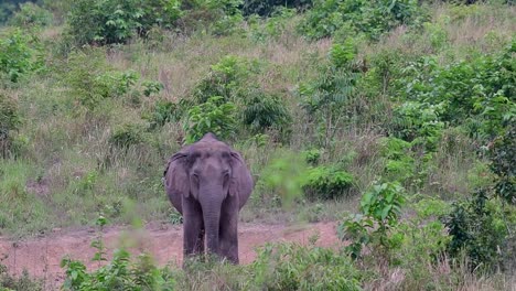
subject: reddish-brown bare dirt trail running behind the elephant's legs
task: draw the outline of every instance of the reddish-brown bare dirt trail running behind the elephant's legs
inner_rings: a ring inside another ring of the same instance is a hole
[[[240,263],[249,263],[256,257],[256,247],[267,241],[297,241],[308,244],[314,234],[319,235],[316,245],[332,247],[338,244],[335,223],[318,223],[297,226],[284,225],[239,225]],[[41,238],[9,240],[0,237],[0,263],[6,265],[11,273],[20,274],[26,269],[31,276],[42,278],[46,288],[52,290],[63,280],[61,259],[69,255],[82,260],[89,270],[98,267],[90,259],[95,249],[90,247],[96,237],[93,229],[74,231],[56,230]],[[168,262],[181,263],[183,249],[182,226],[150,224],[141,230],[129,230],[121,227],[109,227],[104,230],[107,256],[120,244],[130,247],[133,254],[150,252],[159,266]]]

